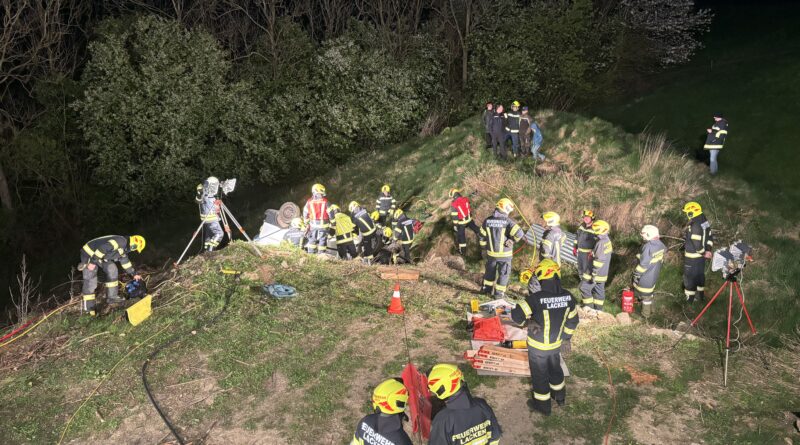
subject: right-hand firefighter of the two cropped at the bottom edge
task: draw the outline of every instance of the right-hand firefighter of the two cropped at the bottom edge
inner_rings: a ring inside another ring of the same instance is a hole
[[[428,373],[428,389],[445,407],[431,422],[429,445],[498,445],[503,431],[494,411],[479,397],[473,397],[456,365],[438,364]]]

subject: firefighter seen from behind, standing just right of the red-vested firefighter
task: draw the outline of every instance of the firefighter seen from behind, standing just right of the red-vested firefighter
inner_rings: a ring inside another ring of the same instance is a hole
[[[480,245],[486,259],[481,292],[491,295],[494,288],[494,295],[498,298],[505,296],[508,287],[514,243],[525,238],[522,228],[508,216],[513,211],[514,203],[502,198],[497,201],[492,216],[486,218],[481,226]]]

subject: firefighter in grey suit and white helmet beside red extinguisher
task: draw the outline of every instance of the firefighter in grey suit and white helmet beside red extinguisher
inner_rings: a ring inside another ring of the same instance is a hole
[[[636,298],[642,302],[642,315],[649,317],[652,313],[653,291],[661,273],[661,265],[664,264],[667,246],[659,239],[656,226],[648,224],[642,227],[641,235],[644,245],[641,253],[636,255],[639,264],[633,271],[633,291]]]

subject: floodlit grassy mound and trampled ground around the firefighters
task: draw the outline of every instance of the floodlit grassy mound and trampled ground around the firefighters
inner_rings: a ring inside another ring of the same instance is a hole
[[[711,187],[703,168],[671,154],[663,139],[625,134],[571,114],[544,111],[538,118],[552,160],[542,165],[493,162],[478,142],[477,120],[468,120],[437,137],[367,154],[316,178],[340,205],[353,198],[370,202],[387,181],[412,216],[426,219],[416,248],[427,260],[423,280],[402,289],[415,363],[425,370],[438,361],[460,362],[467,345],[463,313],[477,288],[479,253],[472,247],[467,272],[436,259],[452,250],[446,207],[451,186],[475,192],[478,215],[486,215],[501,193],[517,201],[531,222],[550,209],[564,221],[576,221],[584,206],[594,207],[614,228],[612,300],[629,280],[638,227],[657,221],[678,236],[680,205],[696,197],[706,205],[718,238],[748,236],[760,254],[744,287],[765,335],[742,333],[747,345],[733,355],[727,389],[720,383],[714,341],[723,332],[722,304],[701,323],[709,339],[686,340],[674,349],[674,338],[652,326],[585,322],[567,359],[574,375],[569,404],[546,420],[529,416],[524,407],[526,379],[480,378],[465,366],[467,381],[495,407],[506,443],[531,443],[532,437],[537,443],[598,443],[612,413],[612,437],[626,443],[783,441],[791,432],[781,411],[796,409],[800,392],[800,348],[790,334],[800,311],[796,291],[788,286],[797,270],[781,266],[776,252],[787,243],[796,248],[797,241],[762,226],[767,215],[723,205],[733,202],[725,196],[747,202],[747,190],[725,182]],[[306,190],[303,185],[288,193],[299,201]],[[659,286],[657,325],[672,325],[699,310],[679,302],[680,254],[672,252]],[[517,269],[528,264],[530,253],[526,249],[518,256]],[[221,266],[245,272],[228,306],[232,283],[218,272]],[[709,277],[710,288],[720,284],[719,277]],[[159,280],[154,316],[139,327],[116,314],[89,320],[67,312],[0,350],[4,443],[58,442],[72,413],[101,383],[65,442],[168,439],[139,370],[153,348],[175,333],[192,331],[152,362],[150,381],[183,434],[192,440],[205,437],[207,443],[345,443],[356,420],[370,409],[371,388],[398,374],[406,361],[402,318],[385,312],[391,283],[379,280],[371,267],[283,249],[269,249],[259,259],[234,243]],[[260,301],[259,285],[272,280],[296,286],[301,297]],[[574,289],[573,271],[565,271],[565,281]],[[612,301],[609,309],[616,305]],[[203,328],[223,307],[227,312],[219,321]],[[783,347],[773,348],[765,339],[783,340]],[[626,366],[658,380],[637,386]]]

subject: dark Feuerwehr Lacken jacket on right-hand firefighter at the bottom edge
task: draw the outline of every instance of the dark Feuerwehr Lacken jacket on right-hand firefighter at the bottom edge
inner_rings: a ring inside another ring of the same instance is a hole
[[[497,445],[503,431],[485,400],[472,397],[465,383],[445,400],[431,423],[429,445]]]

